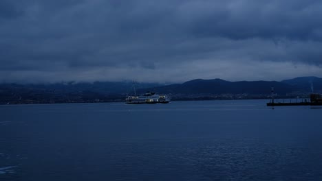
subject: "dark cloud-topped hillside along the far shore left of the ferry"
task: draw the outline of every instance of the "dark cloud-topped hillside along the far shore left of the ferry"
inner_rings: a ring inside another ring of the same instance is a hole
[[[0,104],[99,102],[123,99],[132,82],[64,82],[56,84],[0,84]],[[137,88],[160,84],[137,83]]]

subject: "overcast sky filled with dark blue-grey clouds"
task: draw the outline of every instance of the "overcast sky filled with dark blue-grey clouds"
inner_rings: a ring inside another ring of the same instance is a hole
[[[1,0],[0,82],[322,77],[321,0]]]

